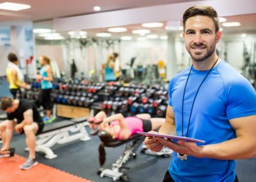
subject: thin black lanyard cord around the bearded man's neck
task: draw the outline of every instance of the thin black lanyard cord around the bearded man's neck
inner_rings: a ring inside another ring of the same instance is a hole
[[[219,58],[217,58],[217,60],[215,61],[214,65],[211,66],[211,69],[208,71],[208,73],[207,73],[206,76],[204,77],[203,81],[202,81],[201,84],[199,85],[199,87],[198,87],[198,89],[197,89],[197,92],[195,93],[195,98],[197,97],[197,93],[198,93],[198,91],[200,90],[201,85],[202,85],[203,82],[206,80],[208,74],[210,74],[212,68],[214,68],[214,66],[215,66],[215,64],[217,63],[218,60],[219,60]],[[193,65],[192,65],[192,66],[193,66]],[[192,66],[191,66],[190,71],[189,71],[189,76],[190,76],[190,73],[191,73],[191,70],[192,70]],[[187,82],[189,81],[189,76],[187,76],[187,81],[186,81],[186,84],[185,84],[185,87],[184,87],[184,93],[183,93],[183,97],[182,97],[182,110],[181,110],[182,136],[183,136],[183,109],[184,109],[184,97],[185,97]],[[193,110],[194,103],[195,103],[195,98],[194,98],[194,100],[193,100],[192,108],[191,108],[190,115],[189,115],[189,124],[190,124],[190,119],[191,119],[191,115],[192,115],[192,110]],[[187,126],[187,134],[189,133],[189,124],[188,124],[188,126]],[[186,137],[187,137],[187,134],[186,134]]]

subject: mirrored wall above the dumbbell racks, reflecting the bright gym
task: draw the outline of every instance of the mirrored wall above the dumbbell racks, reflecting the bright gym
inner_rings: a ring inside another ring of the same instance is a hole
[[[254,22],[251,17],[255,17],[255,15],[225,17],[223,23],[239,22],[240,26],[234,28],[228,24],[222,24],[223,34],[221,41],[217,44],[217,52],[220,58],[226,60],[253,82],[255,80],[256,17]],[[246,20],[251,20],[251,22],[248,23]],[[155,28],[128,25],[123,29],[120,28],[121,31],[112,28],[112,32],[108,31],[108,28],[74,30],[56,34],[56,39],[51,40],[42,39],[42,36],[34,33],[36,37],[35,53],[36,57],[47,54],[56,60],[59,71],[67,77],[70,77],[72,63],[75,63],[78,68],[75,73],[76,77],[102,81],[102,64],[107,62],[108,55],[118,52],[118,60],[127,78],[136,82],[145,80],[151,82],[154,79],[159,79],[161,77],[159,72],[161,72],[165,73],[163,74],[165,76],[161,78],[168,80],[170,76],[167,76],[166,73],[171,66],[168,63],[174,62],[176,73],[178,73],[189,66],[191,60],[181,36],[182,23],[175,30],[167,29],[167,24],[165,22],[161,27]],[[132,31],[138,30],[143,30],[143,32],[132,33]],[[173,39],[168,39],[167,35],[170,32],[176,36],[174,42],[176,58],[174,60],[170,58],[167,51],[168,41],[173,41]],[[56,31],[52,30],[52,33],[56,33]],[[57,39],[58,36],[59,39]],[[159,68],[159,65],[163,65],[162,68]],[[146,68],[151,66],[156,66],[151,69],[151,71],[155,70],[155,74],[147,74]]]

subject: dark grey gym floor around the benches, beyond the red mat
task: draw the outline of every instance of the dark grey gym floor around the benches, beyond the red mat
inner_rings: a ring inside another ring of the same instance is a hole
[[[6,84],[0,83],[1,95],[10,96],[9,90]],[[61,118],[57,118],[56,122],[61,122]],[[49,123],[51,124],[51,123]],[[86,127],[89,132],[89,127]],[[53,151],[58,157],[54,159],[45,159],[44,154],[37,153],[38,162],[55,167],[64,172],[72,175],[78,175],[81,178],[86,178],[91,181],[113,181],[111,178],[101,178],[97,175],[99,170],[98,160],[98,146],[99,138],[97,136],[91,136],[89,141],[72,141],[53,146]],[[0,144],[1,146],[1,144]],[[118,146],[116,148],[105,148],[106,150],[106,162],[104,168],[111,169],[112,163],[116,162],[116,159],[121,156],[124,151],[124,146]],[[15,134],[12,138],[11,147],[15,148],[15,153],[28,157],[28,153],[24,150],[26,148],[25,136]],[[129,167],[129,170],[123,169],[122,173],[127,173],[130,181],[147,181],[157,182],[162,181],[165,175],[167,167],[169,166],[171,155],[168,158],[156,157],[148,154],[140,153],[140,149],[137,151],[136,159],[130,159],[124,166]],[[252,159],[237,160],[236,173],[240,182],[253,182],[256,179],[256,157]]]

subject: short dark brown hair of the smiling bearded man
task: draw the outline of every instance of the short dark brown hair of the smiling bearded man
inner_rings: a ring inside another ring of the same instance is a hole
[[[184,14],[183,14],[183,25],[185,30],[185,23],[189,17],[195,17],[197,15],[211,17],[214,21],[215,25],[215,32],[219,31],[219,16],[217,11],[211,6],[204,6],[204,5],[195,5],[193,7],[189,7]]]

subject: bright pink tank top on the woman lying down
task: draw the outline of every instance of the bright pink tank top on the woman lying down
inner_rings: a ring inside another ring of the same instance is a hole
[[[135,117],[135,116],[126,117],[126,118],[124,118],[124,122],[126,122],[127,127],[131,131],[131,135],[129,135],[129,137],[131,137],[138,131],[143,132],[143,122],[138,117]],[[110,127],[112,127],[115,124],[120,125],[118,121],[114,121],[110,124]],[[118,135],[118,140],[121,140],[121,130]]]

